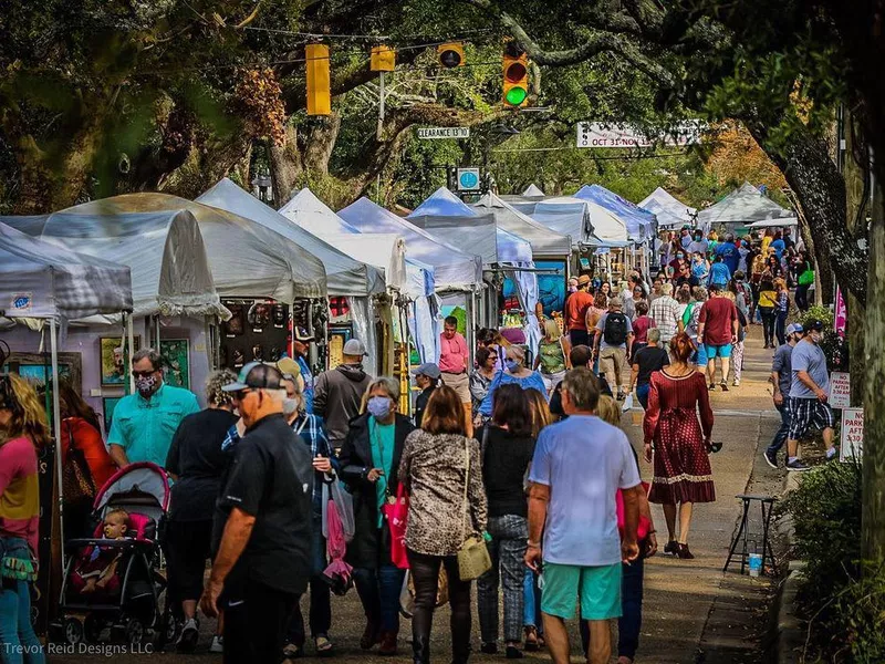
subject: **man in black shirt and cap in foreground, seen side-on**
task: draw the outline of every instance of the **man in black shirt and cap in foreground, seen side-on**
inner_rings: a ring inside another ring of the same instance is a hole
[[[200,605],[225,611],[225,662],[280,661],[285,624],[311,575],[308,447],[287,424],[285,390],[275,366],[252,362],[225,387],[246,435],[218,499],[227,513]]]

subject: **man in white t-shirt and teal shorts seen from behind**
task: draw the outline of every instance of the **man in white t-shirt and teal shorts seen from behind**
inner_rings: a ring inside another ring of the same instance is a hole
[[[612,653],[608,621],[621,615],[622,562],[639,553],[639,471],[627,436],[594,415],[600,398],[589,369],[573,369],[562,381],[569,417],[545,427],[532,459],[529,543],[525,563],[543,560],[546,645],[554,664],[569,662],[565,621],[581,618],[590,627],[589,664],[606,664]],[[623,489],[624,540],[617,530],[615,495]],[[544,533],[543,547],[541,533]]]

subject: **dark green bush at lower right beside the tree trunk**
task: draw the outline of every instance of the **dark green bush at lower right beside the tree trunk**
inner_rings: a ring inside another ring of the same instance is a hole
[[[796,605],[811,623],[809,662],[885,661],[885,569],[860,561],[861,487],[860,464],[831,463],[803,474],[781,506],[806,562]]]

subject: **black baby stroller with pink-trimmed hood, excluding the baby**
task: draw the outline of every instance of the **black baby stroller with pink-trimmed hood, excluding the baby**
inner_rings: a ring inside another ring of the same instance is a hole
[[[67,566],[62,581],[59,619],[50,625],[50,637],[76,645],[97,642],[111,629],[111,639],[139,645],[160,629],[159,596],[166,580],[158,572],[160,546],[157,533],[169,507],[166,471],[147,461],[132,464],[115,473],[101,488],[93,504],[96,520],[92,538],[65,543]],[[103,521],[114,509],[128,512],[129,530],[124,539],[104,539]],[[118,583],[113,592],[84,594],[74,579],[76,566],[101,551],[115,556]]]

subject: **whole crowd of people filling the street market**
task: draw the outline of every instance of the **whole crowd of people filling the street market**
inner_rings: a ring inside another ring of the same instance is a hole
[[[399,413],[398,380],[365,372],[360,340],[344,344],[341,365],[313,376],[312,339],[299,329],[293,357],[248,364],[239,376],[212,373],[205,409],[164,383],[158,353],[136,352],[136,393],[117,405],[106,446],[95,413],[61,386],[63,450],[79,450],[98,486],[139,461],[173,478],[163,543],[179,651],[197,646],[201,610],[219,618],[209,650],[225,661],[298,658],[308,643],[300,600],[310,589],[313,651],[335,653],[323,517],[340,483],[352,500],[344,560],[366,618],[362,649],[399,651],[407,568],[417,664],[429,662],[440,594],[451,605],[452,662],[467,661],[473,580],[483,653],[499,652],[500,639],[508,658],[546,646],[554,662],[568,662],[564,621],[580,599],[589,661],[608,661],[608,621],[618,619],[618,662],[628,664],[642,623],[642,561],[657,552],[649,502],[665,515],[664,553],[693,559],[694,505],[716,499],[709,392],[740,385],[757,317],[767,346],[782,341],[772,369],[782,426],[766,458],[777,465],[785,443],[787,468],[804,469],[798,440],[812,426],[834,454],[821,324],[785,325],[788,280],[802,286],[809,269],[789,232],[719,241],[684,229],[665,249],[650,283],[638,271],[617,284],[571,280],[562,318],[541,321],[533,357],[512,331],[480,330],[469,349],[458,321],[446,319],[439,362],[413,371],[412,416]],[[650,487],[620,430],[634,391]],[[35,573],[45,422],[29,383],[0,378],[0,546],[4,578],[7,568],[15,574],[3,584],[0,636],[21,644],[35,642],[22,616]],[[407,526],[397,538],[392,506],[403,496]],[[10,499],[29,509],[10,512]],[[65,537],[88,528],[82,505],[65,506]]]

